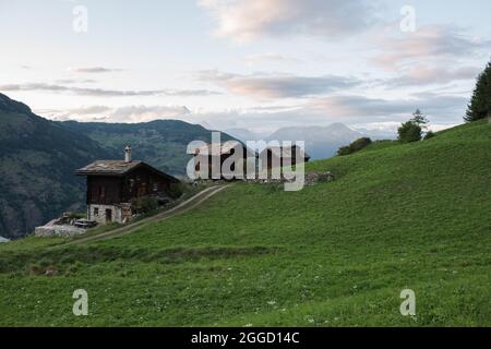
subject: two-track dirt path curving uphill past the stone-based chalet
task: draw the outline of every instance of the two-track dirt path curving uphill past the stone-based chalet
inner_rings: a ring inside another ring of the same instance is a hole
[[[161,221],[161,220],[166,220],[166,219],[177,216],[177,215],[182,215],[183,213],[201,205],[203,202],[205,202],[213,195],[217,194],[218,192],[223,191],[224,189],[228,188],[229,185],[230,184],[215,185],[215,186],[207,188],[207,189],[199,192],[196,195],[180,203],[176,207],[170,208],[169,210],[163,212],[160,214],[157,214],[157,215],[148,217],[148,218],[144,218],[142,220],[135,221],[128,226],[117,228],[115,230],[101,232],[99,234],[91,236],[91,237],[86,237],[86,238],[80,238],[80,239],[67,242],[67,243],[64,243],[64,245],[87,243],[87,242],[93,242],[93,241],[101,241],[101,240],[107,240],[107,239],[129,234],[129,233],[135,231],[136,229],[142,228],[143,226],[145,226],[147,224],[155,222],[155,221]]]

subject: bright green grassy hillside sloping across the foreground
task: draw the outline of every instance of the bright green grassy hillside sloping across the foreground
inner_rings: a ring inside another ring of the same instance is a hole
[[[374,144],[308,166],[332,183],[237,183],[88,245],[0,245],[0,325],[489,326],[490,134],[482,121]],[[87,317],[72,314],[77,288]],[[399,314],[406,288],[415,318]]]

